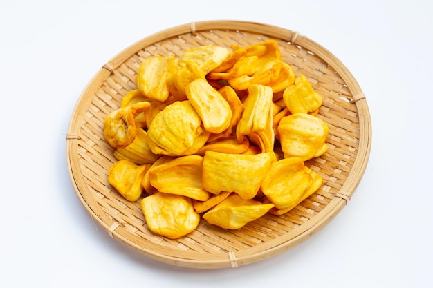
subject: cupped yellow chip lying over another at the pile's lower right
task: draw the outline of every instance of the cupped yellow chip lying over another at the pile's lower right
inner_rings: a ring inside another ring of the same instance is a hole
[[[300,200],[311,182],[301,158],[286,158],[270,164],[261,191],[275,208],[285,209]]]

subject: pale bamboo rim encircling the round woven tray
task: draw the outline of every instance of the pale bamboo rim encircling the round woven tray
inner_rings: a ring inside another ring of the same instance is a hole
[[[335,69],[338,75],[347,84],[352,95],[355,95],[353,99],[349,99],[349,101],[355,103],[356,108],[358,109],[360,137],[358,143],[358,153],[356,155],[355,161],[353,162],[352,169],[343,186],[341,187],[340,193],[335,195],[337,197],[333,198],[322,211],[317,213],[315,218],[319,219],[320,221],[310,220],[305,224],[300,225],[302,226],[302,229],[296,229],[295,231],[291,231],[284,234],[283,236],[279,236],[278,238],[270,240],[264,244],[257,245],[256,247],[252,247],[250,249],[236,251],[233,253],[229,252],[228,255],[225,255],[224,253],[196,253],[198,256],[196,258],[182,258],[169,256],[170,250],[174,251],[174,249],[169,247],[164,247],[162,249],[163,251],[160,251],[160,249],[146,249],[145,247],[140,246],[140,244],[138,244],[139,241],[137,236],[133,235],[133,233],[129,232],[127,229],[123,229],[123,227],[119,225],[119,222],[113,221],[105,216],[104,211],[102,211],[102,209],[96,203],[96,200],[88,197],[88,195],[85,193],[82,193],[79,183],[84,183],[84,179],[82,173],[80,173],[80,166],[75,165],[76,159],[74,159],[74,155],[77,155],[77,140],[79,137],[76,131],[79,131],[81,126],[80,122],[74,121],[74,119],[82,119],[82,117],[84,117],[86,111],[80,111],[80,106],[88,106],[88,104],[90,104],[92,101],[96,90],[98,90],[99,87],[95,87],[92,84],[95,82],[102,83],[104,79],[107,79],[107,77],[109,77],[109,75],[111,75],[111,73],[113,73],[118,66],[124,63],[129,57],[131,57],[131,55],[135,54],[135,52],[138,52],[142,48],[156,42],[163,41],[164,39],[176,37],[177,35],[183,35],[185,33],[192,33],[192,35],[194,35],[196,32],[205,30],[239,30],[243,32],[264,34],[268,35],[269,37],[287,40],[288,42],[291,42],[291,44],[302,46],[302,48],[306,48],[307,50],[315,53],[317,57],[322,58],[327,64]],[[247,265],[282,253],[282,251],[291,249],[297,244],[300,244],[308,238],[311,238],[311,236],[315,235],[315,233],[320,231],[336,215],[338,215],[342,208],[345,207],[351,199],[351,196],[355,192],[362,176],[365,173],[369,159],[369,153],[371,150],[371,120],[365,95],[362,93],[362,90],[356,79],[354,79],[353,75],[351,75],[349,70],[341,63],[339,59],[337,59],[333,54],[331,54],[331,52],[326,50],[320,44],[317,44],[315,41],[308,39],[297,32],[264,23],[216,20],[192,22],[162,30],[155,33],[154,35],[140,39],[135,44],[128,46],[118,53],[118,55],[111,58],[93,76],[77,100],[71,115],[71,122],[68,126],[66,140],[68,171],[71,176],[71,182],[75,192],[77,193],[80,202],[82,202],[86,208],[86,211],[89,212],[93,220],[98,222],[98,224],[107,230],[112,238],[123,242],[131,249],[144,254],[148,258],[158,260],[159,262],[165,262],[170,265],[182,267],[215,269],[239,267],[241,265]],[[296,234],[295,237],[292,234]],[[164,254],[162,255],[161,252]]]

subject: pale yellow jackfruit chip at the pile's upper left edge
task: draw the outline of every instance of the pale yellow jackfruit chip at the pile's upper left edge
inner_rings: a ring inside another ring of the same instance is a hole
[[[173,55],[145,59],[138,68],[136,77],[138,90],[150,99],[164,102],[169,97],[167,79],[175,72]]]

